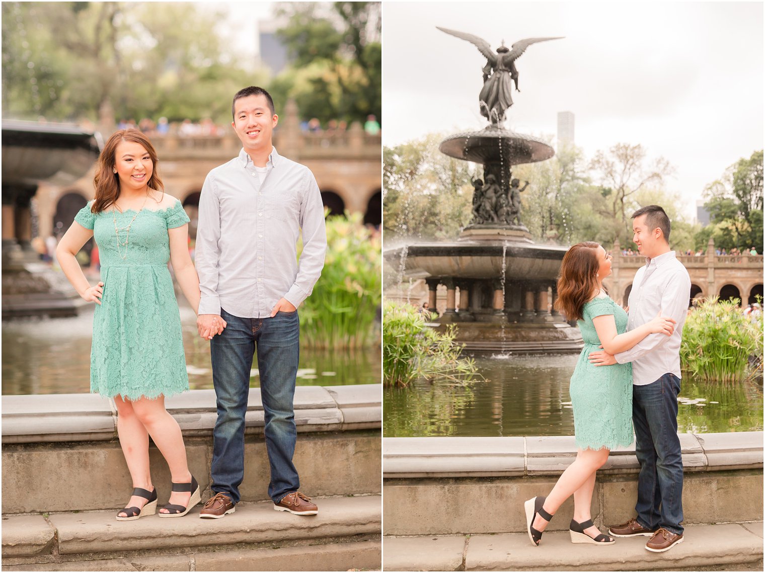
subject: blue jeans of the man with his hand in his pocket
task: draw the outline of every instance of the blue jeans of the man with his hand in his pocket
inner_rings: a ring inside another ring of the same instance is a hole
[[[242,318],[221,309],[227,326],[210,340],[218,418],[213,430],[212,490],[239,502],[244,479],[244,416],[249,372],[257,347],[260,395],[265,412],[265,448],[271,464],[269,497],[278,503],[300,489],[295,454],[295,376],[300,353],[298,311],[273,318]]]

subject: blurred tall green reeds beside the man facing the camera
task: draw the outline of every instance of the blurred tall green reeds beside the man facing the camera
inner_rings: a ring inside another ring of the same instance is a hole
[[[311,347],[359,348],[379,340],[382,249],[362,217],[327,217],[324,269],[300,309],[303,340]]]

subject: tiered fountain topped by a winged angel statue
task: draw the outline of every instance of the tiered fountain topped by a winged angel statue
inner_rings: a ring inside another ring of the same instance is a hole
[[[521,185],[513,178],[516,165],[545,161],[555,151],[538,138],[503,126],[513,105],[512,83],[518,90],[515,60],[532,44],[559,38],[527,38],[512,49],[503,43],[495,54],[480,37],[438,29],[470,41],[487,58],[479,106],[489,125],[451,135],[439,145],[445,155],[483,164],[483,180],[473,181],[473,218],[456,241],[389,249],[386,259],[399,266],[402,278],[425,278],[430,308],[435,309],[438,286],[446,287],[446,311],[438,323],[459,323],[457,341],[465,350],[581,350],[579,330],[552,306],[567,248],[534,243],[521,212],[521,193],[529,182]]]

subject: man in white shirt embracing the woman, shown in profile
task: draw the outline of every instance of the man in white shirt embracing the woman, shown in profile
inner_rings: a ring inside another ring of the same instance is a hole
[[[657,314],[675,319],[671,336],[649,334],[616,356],[590,354],[597,366],[632,362],[632,419],[635,453],[640,462],[636,517],[613,526],[617,537],[651,536],[646,549],[664,552],[682,542],[682,456],[677,435],[680,392],[680,340],[691,278],[669,249],[669,217],[658,205],[633,214],[633,241],[646,265],[638,269],[630,291],[627,330],[646,324]]]

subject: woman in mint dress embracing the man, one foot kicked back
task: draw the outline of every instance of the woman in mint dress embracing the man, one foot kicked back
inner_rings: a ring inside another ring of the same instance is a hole
[[[597,469],[606,463],[612,449],[633,441],[632,365],[594,366],[588,355],[601,345],[610,354],[623,352],[648,334],[669,336],[674,330],[672,318],[656,317],[627,332],[627,313],[603,290],[603,279],[610,274],[611,257],[597,243],[578,243],[563,257],[556,308],[577,320],[584,339],[569,387],[577,457],[546,498],[533,497],[524,504],[529,539],[534,545],[539,545],[549,520],[571,495],[571,542],[614,543],[593,525],[590,505]]]

